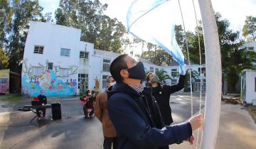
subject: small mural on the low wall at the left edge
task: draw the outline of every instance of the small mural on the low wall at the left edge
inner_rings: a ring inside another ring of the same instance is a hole
[[[0,70],[0,93],[9,93],[9,73],[10,70]]]

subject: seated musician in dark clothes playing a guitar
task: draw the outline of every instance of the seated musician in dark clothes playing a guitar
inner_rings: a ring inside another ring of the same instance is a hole
[[[87,109],[90,108],[92,109],[92,111],[90,111],[90,118],[92,118],[92,114],[94,114],[94,103],[95,103],[95,94],[92,94],[92,90],[88,89],[86,94],[84,96],[80,97],[80,101],[82,101],[82,109],[84,111],[85,114],[85,118],[88,117],[87,115]]]

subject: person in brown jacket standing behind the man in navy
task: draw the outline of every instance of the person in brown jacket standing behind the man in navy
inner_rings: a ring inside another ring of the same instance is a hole
[[[107,77],[107,87],[115,84],[112,76]],[[95,116],[102,122],[102,131],[104,136],[104,149],[117,149],[117,133],[114,128],[110,116],[107,111],[107,91],[104,90],[96,96],[95,101]]]

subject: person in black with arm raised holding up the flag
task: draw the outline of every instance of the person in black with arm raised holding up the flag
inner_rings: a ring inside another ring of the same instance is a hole
[[[178,79],[178,84],[175,85],[161,85],[159,77],[153,72],[149,72],[149,74],[146,75],[146,82],[148,82],[149,86],[152,87],[152,95],[156,99],[157,104],[159,104],[159,109],[164,118],[165,125],[171,125],[171,123],[173,123],[169,100],[172,93],[178,92],[184,87],[186,79],[186,65],[180,65],[179,74],[180,77]]]

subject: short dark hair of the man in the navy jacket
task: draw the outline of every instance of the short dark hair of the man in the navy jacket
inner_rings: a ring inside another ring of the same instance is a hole
[[[110,74],[114,80],[119,83],[122,82],[123,78],[120,75],[121,70],[127,70],[127,62],[124,61],[124,57],[128,56],[127,54],[122,54],[116,57],[113,62],[110,64]]]

